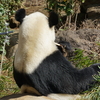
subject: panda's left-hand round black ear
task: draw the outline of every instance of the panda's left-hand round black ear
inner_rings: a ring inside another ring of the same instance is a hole
[[[25,9],[19,9],[18,11],[16,11],[16,14],[15,14],[15,19],[20,22],[20,24],[22,23],[23,21],[23,18],[26,16],[26,12],[25,12]]]

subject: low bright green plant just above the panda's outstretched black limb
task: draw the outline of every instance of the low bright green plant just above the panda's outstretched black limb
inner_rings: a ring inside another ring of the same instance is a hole
[[[78,68],[88,67],[91,64],[100,62],[100,60],[94,59],[94,55],[84,56],[83,52],[84,50],[77,49],[74,52],[75,56],[70,58],[70,61],[72,61],[76,67]]]

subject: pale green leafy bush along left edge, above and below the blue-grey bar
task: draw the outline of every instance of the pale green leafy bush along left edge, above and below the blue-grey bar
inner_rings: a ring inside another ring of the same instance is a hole
[[[8,32],[10,30],[7,22],[14,14],[15,10],[20,8],[22,1],[23,0],[0,0],[0,33]],[[7,39],[7,36],[0,35],[0,54],[2,53],[0,74],[2,71],[3,55],[5,55],[5,45],[8,45]]]

